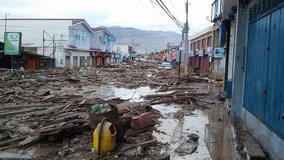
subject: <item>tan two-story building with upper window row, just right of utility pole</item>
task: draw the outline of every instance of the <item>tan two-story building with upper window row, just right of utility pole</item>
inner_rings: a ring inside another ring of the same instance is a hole
[[[211,42],[212,27],[196,33],[190,37],[191,52],[188,57],[188,65],[200,68],[201,74],[209,74],[211,71]]]

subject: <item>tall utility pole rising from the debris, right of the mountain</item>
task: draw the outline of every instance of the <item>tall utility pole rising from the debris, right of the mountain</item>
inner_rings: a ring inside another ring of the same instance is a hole
[[[185,4],[185,12],[186,12],[186,21],[185,21],[185,51],[184,51],[184,66],[183,66],[183,74],[185,76],[188,75],[187,73],[187,62],[188,62],[188,0],[186,0]]]

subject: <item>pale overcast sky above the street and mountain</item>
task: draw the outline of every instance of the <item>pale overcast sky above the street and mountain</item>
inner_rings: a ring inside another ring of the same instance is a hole
[[[159,1],[159,0],[158,0]],[[91,27],[121,26],[181,33],[173,20],[150,0],[0,0],[0,18],[84,18]],[[156,0],[153,0],[156,2]],[[162,0],[171,13],[185,22],[185,0]],[[213,0],[190,0],[190,35],[211,26]]]

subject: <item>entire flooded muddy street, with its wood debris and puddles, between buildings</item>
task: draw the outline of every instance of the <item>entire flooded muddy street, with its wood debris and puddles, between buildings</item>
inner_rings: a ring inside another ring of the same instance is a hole
[[[2,81],[18,83],[23,92],[14,95],[14,85],[3,88],[0,157],[99,158],[93,148],[96,127],[90,127],[88,112],[94,104],[109,103],[118,108],[116,130],[122,135],[116,149],[100,159],[232,159],[230,119],[226,103],[219,101],[220,84],[193,74],[177,85],[176,73],[177,67],[157,70],[153,62],[140,62],[120,68],[26,73]],[[50,81],[37,82],[38,75]],[[220,94],[222,98],[222,89]],[[132,118],[147,112],[152,125],[133,127]],[[22,133],[23,128],[29,131]]]

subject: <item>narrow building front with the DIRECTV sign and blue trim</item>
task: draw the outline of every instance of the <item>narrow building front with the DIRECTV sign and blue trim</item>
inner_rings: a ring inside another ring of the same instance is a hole
[[[236,31],[236,1],[215,0],[211,5],[211,78],[224,81],[226,98],[232,95],[233,56]]]

